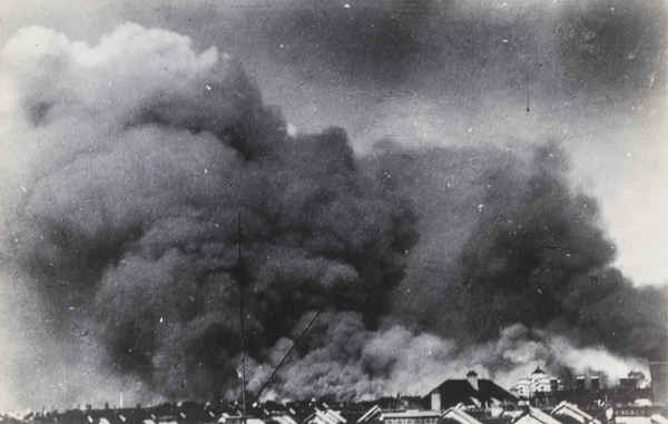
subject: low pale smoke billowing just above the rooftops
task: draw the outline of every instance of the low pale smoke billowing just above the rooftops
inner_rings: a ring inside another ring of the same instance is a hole
[[[320,318],[318,318],[320,319]],[[485,343],[460,345],[432,332],[414,332],[401,325],[364,329],[351,313],[325,315],[320,331],[307,337],[298,358],[288,356],[266,397],[371,400],[380,395],[425,395],[445,378],[461,379],[470,369],[510,388],[537,366],[574,383],[576,374],[603,374],[610,384],[628,369],[645,369],[642,361],[622,358],[602,347],[577,347],[567,337],[521,324],[505,327]],[[333,324],[334,323],[334,324]],[[306,325],[304,323],[303,325]],[[281,341],[267,364],[256,367],[249,387],[267,381],[292,345]]]

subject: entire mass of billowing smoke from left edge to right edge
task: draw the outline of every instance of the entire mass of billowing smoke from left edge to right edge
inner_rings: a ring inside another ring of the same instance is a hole
[[[23,28],[0,82],[6,407],[238,396],[239,280],[249,393],[322,310],[276,398],[538,363],[613,381],[666,334],[666,287],[613,266],[558,142],[360,156],[288,129],[216,47],[136,23],[90,46]]]

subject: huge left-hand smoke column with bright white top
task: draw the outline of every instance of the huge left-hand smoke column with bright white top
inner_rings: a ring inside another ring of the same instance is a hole
[[[52,328],[90,334],[116,372],[173,400],[234,393],[238,278],[258,362],[306,312],[387,312],[414,217],[343,130],[287,136],[238,63],[167,31],[90,48],[28,28],[4,55],[22,126],[6,142],[33,152],[11,256]]]

